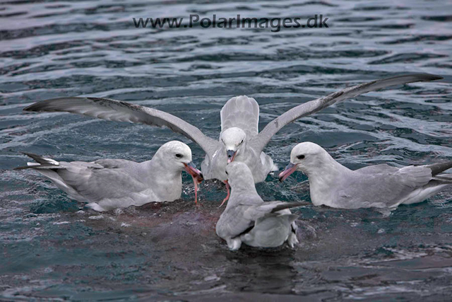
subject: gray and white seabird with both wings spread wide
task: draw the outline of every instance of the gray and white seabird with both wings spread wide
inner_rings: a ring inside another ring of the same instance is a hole
[[[172,131],[188,137],[206,152],[206,157],[201,164],[201,170],[206,180],[212,178],[226,180],[227,163],[239,161],[248,165],[254,182],[263,182],[268,173],[278,170],[270,156],[263,153],[263,149],[273,135],[286,124],[363,93],[388,86],[438,79],[442,79],[441,76],[411,74],[345,88],[343,91],[331,93],[326,97],[311,100],[288,110],[268,123],[261,132],[258,132],[258,103],[254,98],[246,95],[237,96],[228,100],[220,112],[219,140],[206,137],[197,127],[167,112],[108,98],[54,98],[34,103],[24,110],[72,112],[104,120],[168,127]]]

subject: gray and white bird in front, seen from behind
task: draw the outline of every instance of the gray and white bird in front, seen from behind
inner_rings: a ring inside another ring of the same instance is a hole
[[[230,250],[242,243],[261,248],[275,248],[287,241],[294,247],[297,240],[298,215],[289,208],[306,205],[303,202],[264,202],[254,186],[253,175],[244,163],[227,165],[227,182],[231,196],[216,226],[217,235]]]

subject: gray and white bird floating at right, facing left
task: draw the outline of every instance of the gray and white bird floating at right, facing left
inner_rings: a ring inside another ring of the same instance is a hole
[[[350,170],[321,146],[307,141],[292,149],[290,163],[279,178],[283,181],[296,170],[305,173],[314,206],[395,208],[423,202],[452,185],[452,174],[442,173],[449,168],[452,161],[403,168],[383,163]]]

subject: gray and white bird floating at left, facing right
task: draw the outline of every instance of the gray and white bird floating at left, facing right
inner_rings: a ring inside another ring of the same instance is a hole
[[[182,194],[182,170],[195,183],[195,201],[201,171],[191,162],[191,149],[181,141],[169,141],[160,146],[150,161],[136,163],[125,159],[85,161],[55,161],[32,153],[25,153],[36,163],[16,168],[35,169],[47,176],[59,189],[95,211],[148,202],[172,202]]]

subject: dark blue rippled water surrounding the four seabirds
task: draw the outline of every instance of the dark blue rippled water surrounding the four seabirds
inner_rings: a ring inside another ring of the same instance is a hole
[[[59,160],[145,161],[170,132],[64,113],[25,114],[47,98],[89,95],[165,110],[220,132],[234,95],[261,105],[261,128],[347,86],[412,72],[444,76],[369,93],[299,120],[265,151],[281,167],[314,141],[350,168],[452,159],[450,1],[10,1],[0,4],[0,299],[448,301],[452,189],[391,214],[299,209],[296,250],[230,252],[215,235],[225,192],[99,214],[31,171],[20,151]],[[135,28],[132,18],[286,18],[329,28]],[[309,201],[306,178],[258,184],[266,200]],[[302,182],[299,184],[299,182]]]

